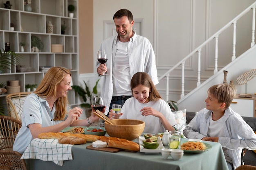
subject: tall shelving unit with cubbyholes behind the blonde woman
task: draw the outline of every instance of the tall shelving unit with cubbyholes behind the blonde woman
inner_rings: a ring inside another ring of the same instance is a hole
[[[0,83],[18,80],[20,92],[25,92],[26,84],[40,84],[45,72],[40,72],[40,66],[62,66],[71,70],[73,84],[78,84],[79,54],[78,54],[78,0],[31,0],[31,12],[25,11],[24,0],[10,0],[11,9],[5,9],[6,0],[0,0],[0,48],[4,43],[10,43],[10,50],[21,54],[20,65],[30,67],[31,72],[17,72],[16,67],[10,67],[0,73]],[[74,17],[68,17],[67,6],[75,6]],[[53,33],[47,33],[47,22],[53,24]],[[67,26],[65,34],[61,34],[61,24]],[[14,31],[10,31],[10,24]],[[37,36],[44,44],[39,52],[31,51],[31,36]],[[20,42],[25,42],[24,52],[20,52]],[[62,44],[63,52],[51,52],[51,44]],[[5,100],[7,94],[0,95]],[[70,91],[70,105],[76,106],[79,96]]]

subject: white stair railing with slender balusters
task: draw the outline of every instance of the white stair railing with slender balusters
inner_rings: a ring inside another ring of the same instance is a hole
[[[178,62],[176,65],[174,65],[171,69],[169,69],[166,73],[164,73],[161,77],[158,78],[158,81],[161,81],[162,79],[166,78],[166,101],[169,99],[169,78],[170,78],[170,73],[175,70],[176,68],[181,66],[181,94],[180,98],[183,98],[184,95],[184,86],[185,86],[185,75],[184,75],[184,65],[187,59],[193,57],[193,56],[198,56],[198,80],[197,80],[197,87],[201,84],[201,50],[207,45],[210,45],[209,43],[215,39],[215,59],[214,59],[214,70],[213,74],[216,74],[218,72],[218,38],[220,33],[225,31],[227,28],[229,28],[231,25],[233,25],[233,51],[232,51],[232,57],[231,61],[234,61],[236,59],[236,22],[239,20],[243,15],[247,14],[249,11],[252,10],[252,42],[251,42],[251,47],[254,46],[255,44],[255,7],[256,7],[256,2],[254,2],[252,5],[250,5],[247,9],[245,9],[242,13],[240,13],[238,16],[236,16],[233,20],[231,20],[228,24],[226,24],[223,28],[221,28],[218,32],[213,34],[209,39],[204,41],[198,48],[195,48],[189,55],[184,57],[180,62]],[[197,55],[195,55],[197,54]]]

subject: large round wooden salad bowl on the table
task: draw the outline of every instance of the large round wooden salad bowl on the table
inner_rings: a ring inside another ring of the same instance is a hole
[[[106,132],[111,137],[118,137],[127,140],[134,140],[142,134],[145,122],[133,119],[115,119],[114,124],[104,122]]]

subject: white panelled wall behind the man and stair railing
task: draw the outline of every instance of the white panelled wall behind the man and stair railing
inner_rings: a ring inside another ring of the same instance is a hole
[[[147,37],[153,45],[160,77],[253,2],[255,0],[93,0],[94,63],[104,39],[103,23],[112,20],[114,13],[119,9],[129,9],[135,19],[143,20],[141,35]],[[252,26],[248,25],[251,22],[252,16],[246,15],[237,23],[237,31],[243,32],[237,37],[237,41],[251,38]],[[227,37],[221,37],[219,40],[219,70],[231,61],[232,43],[229,42],[229,37],[232,31],[228,32],[230,34]],[[243,44],[237,45],[239,48],[236,52],[240,55],[245,51],[243,46],[249,46],[249,42],[243,41]],[[202,51],[201,60],[201,79],[204,81],[213,72],[213,49]],[[247,68],[245,70],[247,71]],[[96,73],[96,65],[94,72]],[[185,93],[188,93],[196,87],[197,61],[185,63],[185,72],[188,82]],[[181,89],[180,70],[172,72],[170,78],[169,99],[177,101],[180,99]],[[165,98],[164,81],[157,85],[157,89]]]

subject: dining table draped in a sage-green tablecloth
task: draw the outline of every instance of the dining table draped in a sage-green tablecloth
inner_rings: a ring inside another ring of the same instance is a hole
[[[182,142],[187,140],[182,139]],[[133,142],[139,144],[139,138]],[[173,160],[171,156],[164,159],[161,153],[92,150],[86,148],[92,145],[92,142],[87,142],[86,144],[73,145],[73,159],[63,161],[62,166],[53,161],[26,159],[27,170],[228,170],[221,144],[203,142],[209,144],[211,149],[204,152],[184,152],[180,160]]]

